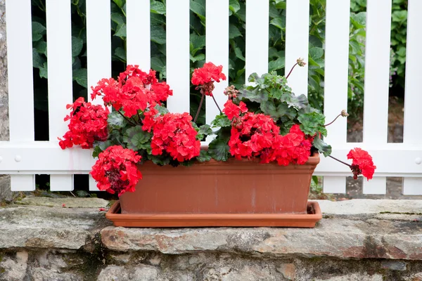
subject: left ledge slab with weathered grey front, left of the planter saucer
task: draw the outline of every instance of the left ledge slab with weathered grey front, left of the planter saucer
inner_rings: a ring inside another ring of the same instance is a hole
[[[13,207],[0,209],[0,248],[79,249],[110,223],[98,209]]]

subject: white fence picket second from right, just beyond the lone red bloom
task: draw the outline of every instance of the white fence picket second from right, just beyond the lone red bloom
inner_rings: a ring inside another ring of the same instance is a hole
[[[368,0],[364,85],[364,144],[387,143],[391,1]],[[385,194],[385,177],[364,181],[365,194]]]

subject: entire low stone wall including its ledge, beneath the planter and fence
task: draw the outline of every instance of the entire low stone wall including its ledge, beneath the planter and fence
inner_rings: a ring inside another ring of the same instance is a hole
[[[319,204],[312,229],[116,228],[106,200],[26,197],[0,208],[0,280],[422,280],[421,200]]]

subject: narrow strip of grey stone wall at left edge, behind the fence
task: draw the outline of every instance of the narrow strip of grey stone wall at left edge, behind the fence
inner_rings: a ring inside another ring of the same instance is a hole
[[[0,0],[0,141],[8,141],[6,2]],[[13,199],[10,176],[0,175],[0,201]]]

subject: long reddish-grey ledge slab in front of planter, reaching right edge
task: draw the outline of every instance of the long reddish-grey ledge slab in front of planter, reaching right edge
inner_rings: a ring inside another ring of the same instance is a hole
[[[422,224],[417,221],[323,218],[316,228],[115,228],[101,230],[115,251],[242,252],[264,256],[331,256],[340,259],[422,260]]]

